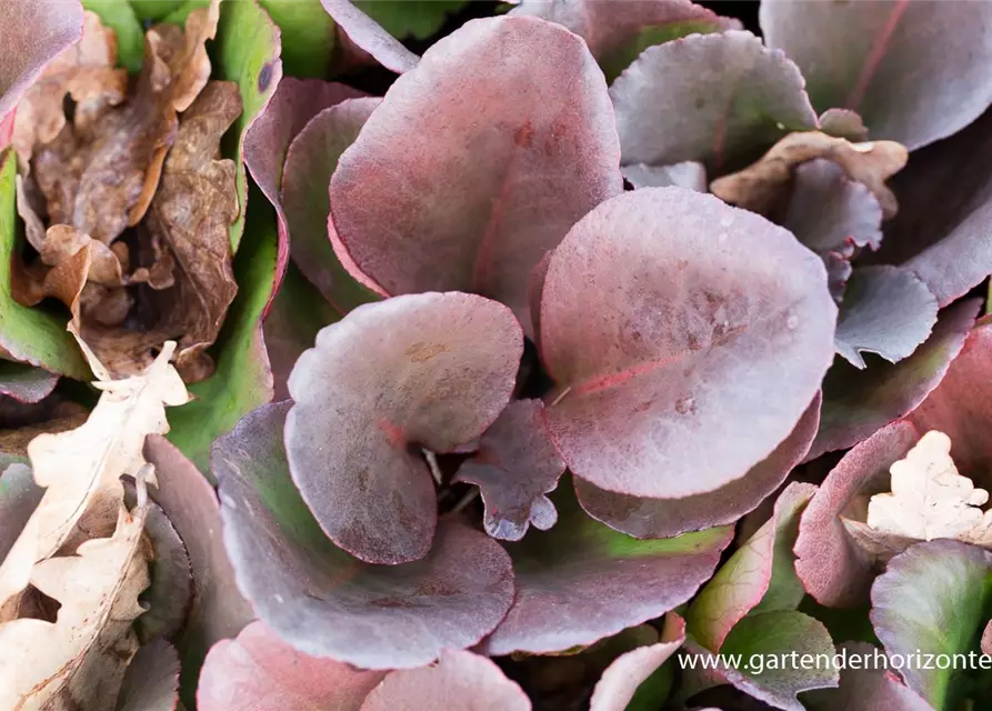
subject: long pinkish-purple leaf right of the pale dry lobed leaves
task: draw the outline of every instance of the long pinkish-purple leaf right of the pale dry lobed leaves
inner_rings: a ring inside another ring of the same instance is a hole
[[[174,642],[183,660],[183,688],[192,692],[210,645],[233,637],[255,615],[234,583],[213,487],[162,437],[147,439],[144,457],[154,464],[158,479],[151,498],[169,517],[189,553],[193,601],[186,629]]]

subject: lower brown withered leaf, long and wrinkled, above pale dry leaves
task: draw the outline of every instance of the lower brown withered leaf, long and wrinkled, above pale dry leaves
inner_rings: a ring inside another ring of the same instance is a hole
[[[82,340],[116,377],[140,372],[151,362],[152,350],[172,338],[179,339],[176,367],[187,382],[202,380],[213,371],[213,361],[204,351],[217,339],[238,291],[229,228],[239,211],[236,166],[216,156],[221,136],[240,113],[238,86],[211,81],[182,116],[144,222],[177,264],[174,274],[171,269],[161,270],[174,276],[174,283],[159,292],[157,307],[162,316],[158,322],[137,332],[83,320]],[[171,281],[152,270],[146,279],[152,287]]]

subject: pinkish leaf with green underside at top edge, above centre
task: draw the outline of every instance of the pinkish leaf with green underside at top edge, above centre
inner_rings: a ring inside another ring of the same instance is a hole
[[[558,22],[584,39],[608,80],[652,44],[741,27],[689,0],[523,0],[510,14]]]

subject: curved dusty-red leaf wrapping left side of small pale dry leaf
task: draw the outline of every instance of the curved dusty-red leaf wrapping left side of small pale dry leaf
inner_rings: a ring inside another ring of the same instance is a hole
[[[860,498],[886,491],[889,467],[919,437],[904,421],[879,430],[844,455],[803,511],[794,548],[795,572],[820,604],[855,608],[866,602],[873,565],[839,517]]]

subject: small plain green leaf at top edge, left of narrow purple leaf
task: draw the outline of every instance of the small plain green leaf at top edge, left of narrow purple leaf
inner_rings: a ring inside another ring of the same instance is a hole
[[[320,0],[259,0],[282,30],[282,62],[292,77],[322,78],[334,53],[334,21]]]

